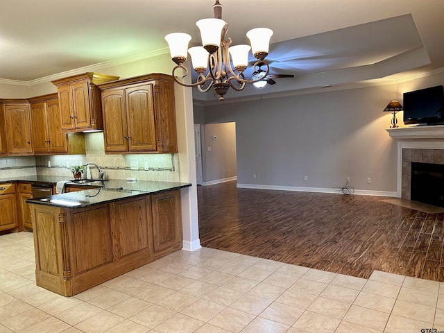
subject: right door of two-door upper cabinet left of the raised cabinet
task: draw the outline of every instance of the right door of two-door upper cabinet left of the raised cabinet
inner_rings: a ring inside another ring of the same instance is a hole
[[[58,99],[51,99],[46,102],[46,116],[49,133],[49,150],[51,153],[67,153],[68,138],[66,133],[62,133],[62,118]]]

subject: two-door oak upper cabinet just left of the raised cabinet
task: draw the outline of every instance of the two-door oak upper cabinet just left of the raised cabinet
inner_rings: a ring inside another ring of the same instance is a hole
[[[61,114],[57,94],[28,99],[31,103],[31,133],[34,155],[85,154],[82,134],[61,130]]]

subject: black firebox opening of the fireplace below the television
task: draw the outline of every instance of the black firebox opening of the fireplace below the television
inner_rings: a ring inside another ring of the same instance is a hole
[[[411,200],[444,207],[444,164],[411,162]]]

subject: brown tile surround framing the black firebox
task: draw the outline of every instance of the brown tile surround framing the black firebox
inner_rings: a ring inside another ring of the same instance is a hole
[[[443,149],[404,148],[402,149],[402,198],[410,200],[411,162],[444,164]]]

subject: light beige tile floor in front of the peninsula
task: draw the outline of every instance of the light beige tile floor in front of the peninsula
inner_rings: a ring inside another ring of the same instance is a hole
[[[444,331],[444,284],[368,280],[221,250],[178,251],[59,296],[35,285],[33,235],[0,236],[0,333]]]

